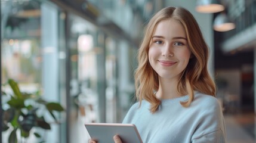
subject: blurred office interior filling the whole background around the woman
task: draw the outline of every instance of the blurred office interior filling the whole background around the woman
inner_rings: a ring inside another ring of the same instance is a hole
[[[1,141],[82,143],[84,123],[121,123],[136,102],[144,26],[174,6],[195,16],[209,46],[227,142],[255,142],[256,0],[215,1],[222,9],[207,12],[205,2],[1,0]]]

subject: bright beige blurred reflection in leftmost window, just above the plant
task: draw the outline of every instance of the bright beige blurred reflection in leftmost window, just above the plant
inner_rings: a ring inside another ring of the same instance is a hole
[[[35,39],[2,41],[2,82],[13,78],[22,83],[41,82],[41,56]]]

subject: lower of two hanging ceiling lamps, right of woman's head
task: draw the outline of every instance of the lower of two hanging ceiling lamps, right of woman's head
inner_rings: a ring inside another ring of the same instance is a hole
[[[232,23],[225,13],[220,13],[214,19],[214,30],[218,32],[226,32],[235,29],[235,24]]]

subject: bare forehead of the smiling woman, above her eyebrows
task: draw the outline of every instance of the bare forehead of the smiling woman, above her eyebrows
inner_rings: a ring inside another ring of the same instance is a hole
[[[183,24],[175,18],[160,21],[156,27],[153,35],[172,35],[183,36],[186,38],[186,31]]]

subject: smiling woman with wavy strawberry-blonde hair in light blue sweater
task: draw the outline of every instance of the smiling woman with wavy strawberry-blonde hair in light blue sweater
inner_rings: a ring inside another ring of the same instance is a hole
[[[225,142],[221,106],[207,69],[208,46],[193,15],[166,7],[146,27],[138,51],[138,102],[123,123],[143,142]],[[116,143],[121,139],[114,136]]]

